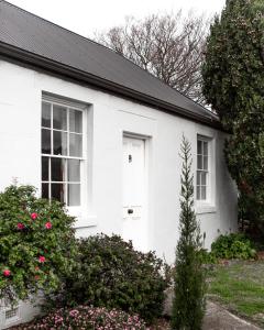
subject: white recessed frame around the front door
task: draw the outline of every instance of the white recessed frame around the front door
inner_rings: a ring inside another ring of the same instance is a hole
[[[128,139],[136,139],[136,140],[143,140],[144,141],[144,183],[143,183],[143,202],[142,202],[142,209],[143,209],[143,215],[142,215],[142,220],[144,221],[145,226],[145,242],[143,246],[143,252],[147,252],[150,249],[150,146],[151,146],[151,139],[152,136],[148,135],[142,135],[142,134],[136,134],[136,133],[131,133],[123,131],[122,133],[122,147],[123,147],[123,140]],[[122,160],[123,162],[123,160]],[[123,168],[123,163],[122,163],[122,168]],[[123,169],[122,169],[123,170]],[[122,208],[123,208],[123,185],[122,185]],[[123,215],[123,213],[122,213]],[[122,216],[122,221],[123,221],[123,216]],[[123,222],[122,222],[123,223]]]

